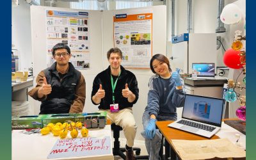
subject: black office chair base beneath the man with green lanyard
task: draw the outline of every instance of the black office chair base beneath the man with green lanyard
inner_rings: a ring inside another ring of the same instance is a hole
[[[113,131],[113,137],[114,137],[114,148],[113,148],[113,155],[114,156],[120,156],[122,159],[125,159],[125,148],[120,148],[120,141],[119,141],[119,136],[120,136],[120,131],[122,131],[122,127],[116,124],[111,124],[111,130]],[[135,150],[136,156],[140,155],[140,148],[137,147],[132,147],[133,150]],[[135,157],[136,159],[136,157]]]

